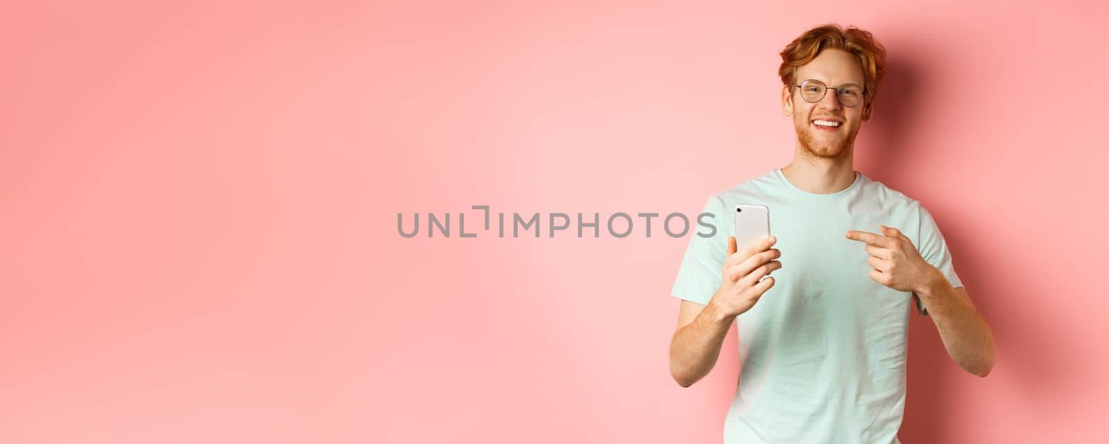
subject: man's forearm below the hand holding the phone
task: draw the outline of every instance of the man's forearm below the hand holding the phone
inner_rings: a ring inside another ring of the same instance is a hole
[[[722,314],[710,301],[693,322],[674,332],[670,341],[670,373],[681,386],[693,385],[709,374],[734,319]]]

